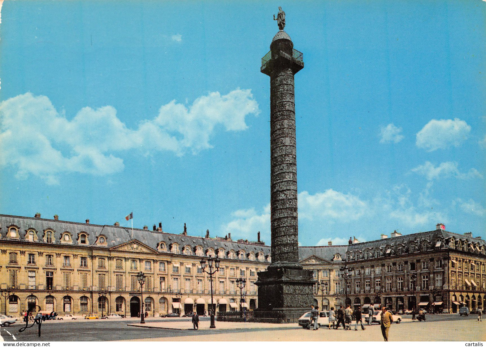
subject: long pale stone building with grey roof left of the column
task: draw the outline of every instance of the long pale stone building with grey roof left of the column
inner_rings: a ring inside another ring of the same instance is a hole
[[[59,314],[137,315],[146,276],[144,310],[150,316],[209,311],[209,276],[200,266],[208,256],[221,259],[213,276],[216,311],[240,309],[237,278],[246,280],[241,305],[258,305],[257,272],[270,264],[270,247],[162,232],[0,215],[0,311],[19,314],[29,306]]]

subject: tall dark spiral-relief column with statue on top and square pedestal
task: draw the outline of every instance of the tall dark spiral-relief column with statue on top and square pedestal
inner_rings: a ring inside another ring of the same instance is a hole
[[[261,72],[270,76],[272,264],[258,274],[256,284],[258,314],[289,321],[309,310],[315,281],[312,271],[303,270],[298,263],[294,75],[304,67],[304,61],[283,30],[285,12],[278,9],[274,19],[279,31],[261,60]]]

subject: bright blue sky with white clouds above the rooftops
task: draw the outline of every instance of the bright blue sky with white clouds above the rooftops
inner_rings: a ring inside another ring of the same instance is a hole
[[[295,76],[299,241],[486,230],[486,2],[5,1],[0,213],[270,243],[269,78]]]

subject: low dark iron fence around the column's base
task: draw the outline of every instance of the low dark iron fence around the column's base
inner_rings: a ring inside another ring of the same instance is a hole
[[[220,322],[296,323],[302,312],[231,311],[218,312]]]

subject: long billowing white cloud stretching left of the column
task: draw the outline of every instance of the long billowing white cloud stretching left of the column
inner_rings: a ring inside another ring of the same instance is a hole
[[[0,165],[15,167],[19,179],[33,174],[48,184],[57,184],[62,173],[113,174],[124,168],[115,152],[197,154],[212,147],[209,139],[216,127],[244,130],[245,117],[259,112],[250,90],[223,96],[213,92],[190,106],[175,101],[163,105],[155,119],[132,130],[112,106],[85,107],[69,121],[46,96],[26,93],[0,104]]]

